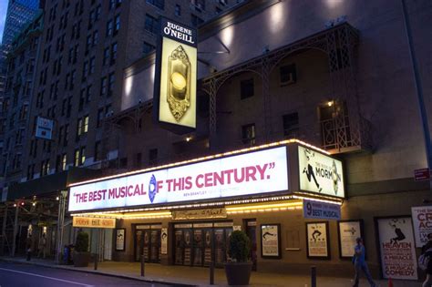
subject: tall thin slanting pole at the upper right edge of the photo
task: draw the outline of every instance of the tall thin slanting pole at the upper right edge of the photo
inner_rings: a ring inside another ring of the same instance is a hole
[[[423,87],[421,83],[421,77],[420,74],[418,73],[416,50],[414,49],[413,46],[411,26],[409,25],[408,13],[406,11],[406,0],[401,0],[401,2],[402,2],[402,13],[404,15],[404,22],[405,22],[405,29],[406,29],[406,40],[408,42],[409,56],[411,57],[411,65],[413,67],[413,73],[414,73],[414,86],[416,87],[418,108],[419,108],[421,123],[423,128],[423,137],[425,139],[427,169],[429,169],[429,174],[430,174],[430,170],[432,169],[431,167],[432,143],[430,141],[429,122],[427,120],[427,110],[425,108],[425,101],[423,98]],[[429,190],[432,190],[432,181],[430,179],[429,179]]]

